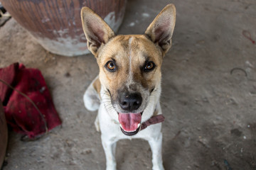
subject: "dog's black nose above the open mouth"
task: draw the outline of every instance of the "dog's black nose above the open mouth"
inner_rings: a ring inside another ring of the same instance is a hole
[[[122,94],[119,97],[119,105],[125,111],[134,111],[142,105],[142,95],[139,93]]]

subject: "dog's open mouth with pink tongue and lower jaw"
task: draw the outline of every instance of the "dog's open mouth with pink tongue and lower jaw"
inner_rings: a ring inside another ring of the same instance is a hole
[[[142,113],[118,113],[118,120],[124,135],[132,136],[139,132],[142,122]]]

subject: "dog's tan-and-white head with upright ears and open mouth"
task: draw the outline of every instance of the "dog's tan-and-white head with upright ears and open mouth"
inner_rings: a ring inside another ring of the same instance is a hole
[[[176,9],[167,5],[144,35],[114,35],[90,8],[81,11],[87,47],[100,67],[105,107],[125,135],[135,135],[150,118],[161,93],[161,64],[171,47]],[[149,109],[149,111],[147,111]],[[142,114],[144,115],[142,118]]]

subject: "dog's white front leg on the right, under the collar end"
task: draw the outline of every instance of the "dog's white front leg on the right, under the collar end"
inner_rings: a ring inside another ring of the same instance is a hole
[[[163,161],[161,157],[161,144],[162,144],[162,134],[159,133],[158,137],[153,137],[149,140],[149,145],[152,152],[152,164],[153,170],[164,170]]]

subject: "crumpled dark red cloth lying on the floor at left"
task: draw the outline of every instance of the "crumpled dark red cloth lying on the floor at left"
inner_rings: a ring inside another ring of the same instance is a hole
[[[23,64],[12,64],[0,69],[0,79],[26,94],[36,104],[46,120],[48,130],[61,124],[53,100],[38,69],[26,69]],[[16,132],[33,138],[46,132],[42,115],[26,97],[0,82],[0,98],[4,103],[6,121]]]

